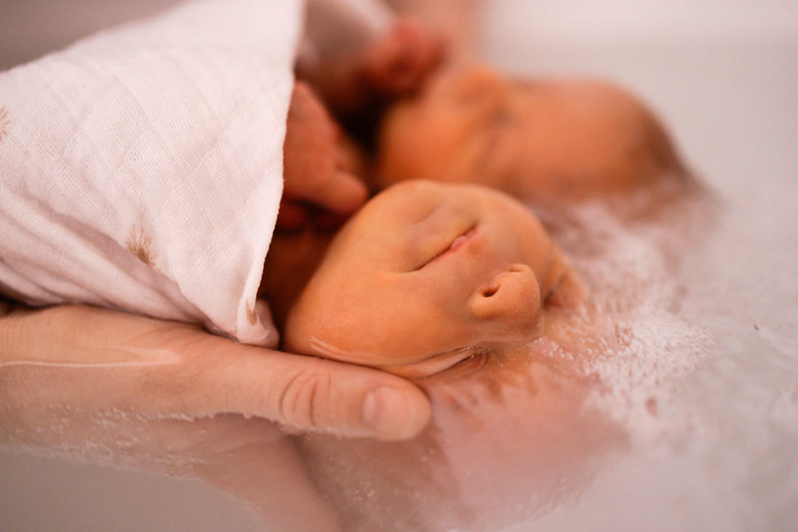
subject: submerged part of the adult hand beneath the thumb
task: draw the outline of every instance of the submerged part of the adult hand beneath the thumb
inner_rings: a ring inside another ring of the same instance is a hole
[[[268,530],[339,529],[293,443],[263,419],[153,419],[51,407],[9,420],[0,436],[15,450],[207,481],[258,512]]]

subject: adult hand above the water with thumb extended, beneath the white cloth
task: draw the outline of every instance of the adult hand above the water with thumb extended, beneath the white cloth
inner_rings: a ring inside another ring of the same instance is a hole
[[[86,306],[6,312],[0,428],[18,428],[4,439],[35,434],[36,416],[53,405],[145,418],[239,413],[382,440],[411,438],[430,416],[426,395],[404,379],[240,345],[194,325]]]

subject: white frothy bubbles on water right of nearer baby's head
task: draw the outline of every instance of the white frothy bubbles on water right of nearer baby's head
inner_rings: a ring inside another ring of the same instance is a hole
[[[605,385],[590,403],[622,423],[633,440],[650,442],[689,422],[669,405],[684,380],[707,363],[713,340],[678,313],[689,294],[674,272],[675,240],[663,244],[657,234],[661,224],[624,220],[602,204],[574,209],[569,217],[575,223],[560,226],[556,237],[597,314],[611,324],[597,344],[603,352],[585,357],[584,371]]]

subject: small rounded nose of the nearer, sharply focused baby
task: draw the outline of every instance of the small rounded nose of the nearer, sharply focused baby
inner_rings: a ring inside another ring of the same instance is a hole
[[[512,264],[497,274],[489,286],[482,286],[468,299],[473,317],[523,330],[536,325],[540,317],[540,284],[527,264]]]

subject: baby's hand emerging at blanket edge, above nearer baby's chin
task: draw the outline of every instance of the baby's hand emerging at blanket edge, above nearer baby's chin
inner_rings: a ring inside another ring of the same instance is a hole
[[[304,82],[291,96],[283,145],[283,199],[278,227],[310,221],[340,224],[364,204],[368,191],[356,177],[364,157]]]

